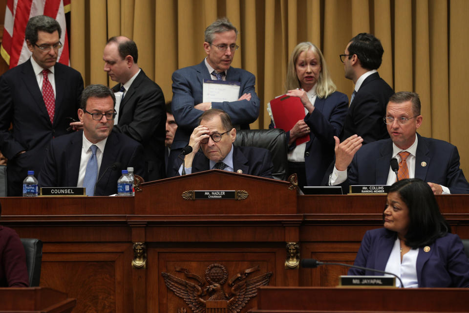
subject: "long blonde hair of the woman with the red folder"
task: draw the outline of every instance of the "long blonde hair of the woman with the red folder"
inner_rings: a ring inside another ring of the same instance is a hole
[[[326,60],[324,60],[324,56],[321,53],[321,50],[318,49],[316,45],[311,44],[310,42],[299,43],[292,52],[290,59],[288,60],[288,67],[287,67],[287,77],[285,80],[285,89],[292,90],[296,88],[301,88],[301,85],[298,80],[296,64],[298,61],[298,57],[302,52],[306,52],[312,50],[319,56],[320,59],[320,66],[321,71],[319,73],[318,82],[316,83],[316,94],[320,98],[327,98],[331,93],[337,90],[336,85],[331,79],[329,75],[329,71],[327,70]]]

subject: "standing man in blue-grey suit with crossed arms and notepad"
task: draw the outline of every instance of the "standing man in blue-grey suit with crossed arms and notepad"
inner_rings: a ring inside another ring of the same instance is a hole
[[[260,101],[255,90],[256,77],[244,69],[231,67],[238,49],[236,38],[237,30],[231,22],[226,18],[216,20],[205,29],[206,58],[198,65],[178,69],[172,74],[172,111],[178,128],[171,145],[171,163],[189,143],[204,111],[216,108],[227,112],[237,129],[249,129],[249,123],[257,119]],[[204,79],[239,82],[239,98],[232,102],[202,102]]]

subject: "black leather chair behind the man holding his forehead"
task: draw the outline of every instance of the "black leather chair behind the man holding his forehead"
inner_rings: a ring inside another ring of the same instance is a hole
[[[287,179],[287,135],[281,129],[259,129],[236,131],[235,146],[251,146],[270,150],[274,168],[272,176],[278,180]]]

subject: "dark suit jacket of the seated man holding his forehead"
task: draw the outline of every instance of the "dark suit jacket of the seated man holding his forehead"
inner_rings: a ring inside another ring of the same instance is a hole
[[[272,156],[269,150],[256,147],[236,147],[233,146],[233,166],[235,172],[242,171],[242,174],[272,177]],[[181,162],[176,162],[174,172],[177,173]],[[199,150],[192,161],[192,173],[210,170],[209,159]]]

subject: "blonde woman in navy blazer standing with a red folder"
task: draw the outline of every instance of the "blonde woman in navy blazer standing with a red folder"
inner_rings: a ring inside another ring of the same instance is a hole
[[[305,111],[304,119],[298,120],[291,130],[285,130],[290,146],[288,175],[297,173],[300,187],[320,186],[334,157],[334,136],[341,133],[348,98],[336,91],[324,56],[309,42],[293,49],[285,88],[287,95],[300,98]],[[296,139],[304,135],[309,135],[309,141],[297,146]]]

